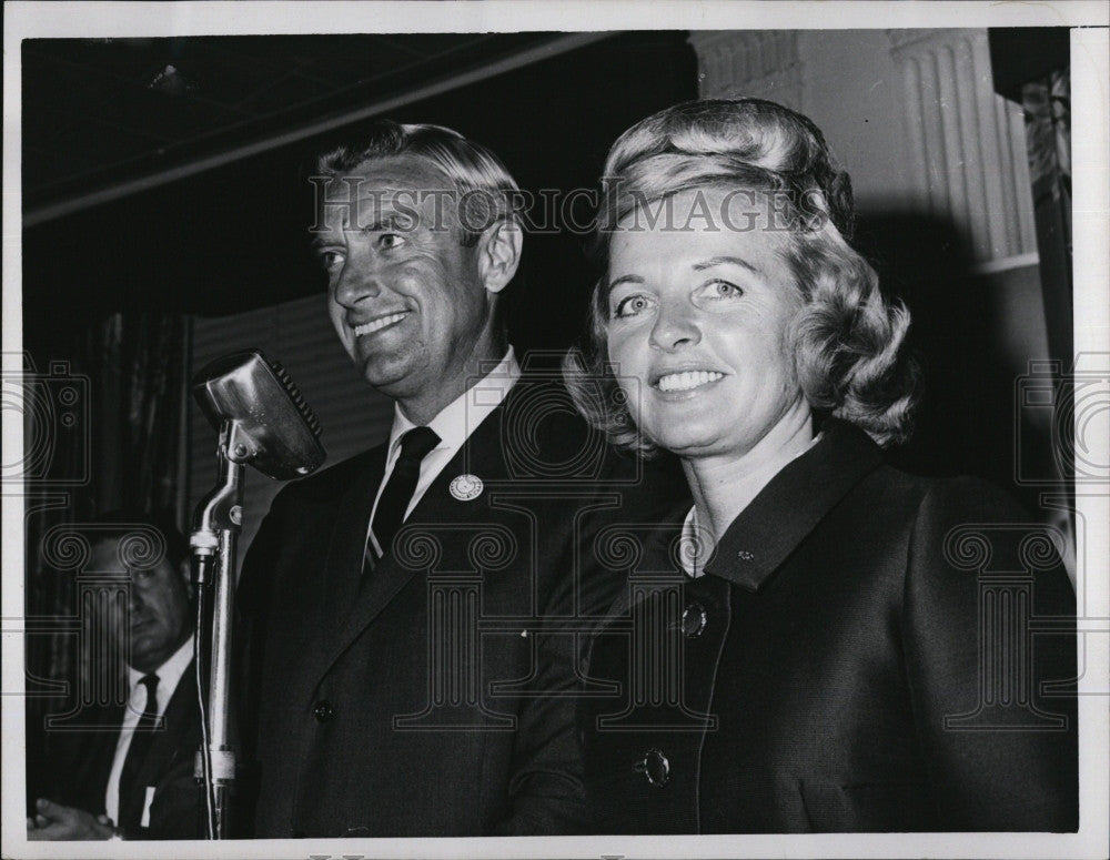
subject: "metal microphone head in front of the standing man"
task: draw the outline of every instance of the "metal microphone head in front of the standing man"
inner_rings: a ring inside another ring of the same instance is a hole
[[[228,456],[276,480],[301,477],[324,462],[320,422],[285,368],[258,350],[209,363],[191,383],[193,397],[218,431],[234,422]]]

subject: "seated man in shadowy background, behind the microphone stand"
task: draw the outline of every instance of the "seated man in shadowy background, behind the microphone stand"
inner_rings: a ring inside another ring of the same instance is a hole
[[[98,584],[82,599],[91,601],[88,620],[107,643],[91,655],[93,688],[87,692],[122,690],[115,675],[122,669],[127,701],[89,695],[82,698],[91,707],[51,718],[51,787],[36,801],[27,837],[194,839],[193,757],[201,732],[188,545],[172,525],[128,512],[102,517],[87,539],[84,573],[94,573]],[[97,634],[90,633],[92,640]],[[100,665],[117,654],[125,667]]]

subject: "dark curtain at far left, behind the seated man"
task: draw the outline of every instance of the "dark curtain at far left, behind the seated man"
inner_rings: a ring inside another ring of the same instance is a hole
[[[47,779],[46,721],[68,714],[79,724],[91,689],[90,619],[81,600],[88,583],[65,535],[119,507],[181,522],[185,333],[180,314],[115,312],[52,341],[34,342],[36,332],[24,338],[33,344],[20,392],[29,798]]]

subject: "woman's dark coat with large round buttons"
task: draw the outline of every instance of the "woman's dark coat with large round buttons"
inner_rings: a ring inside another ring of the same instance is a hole
[[[596,830],[1076,829],[1074,596],[1043,527],[836,422],[694,580],[686,509],[593,641],[620,685],[583,700]]]

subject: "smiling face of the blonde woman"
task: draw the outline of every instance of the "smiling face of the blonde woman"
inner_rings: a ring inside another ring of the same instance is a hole
[[[696,193],[710,206],[727,196]],[[769,230],[614,233],[608,355],[637,426],[657,445],[743,456],[803,402],[787,346],[801,300],[781,241]]]

